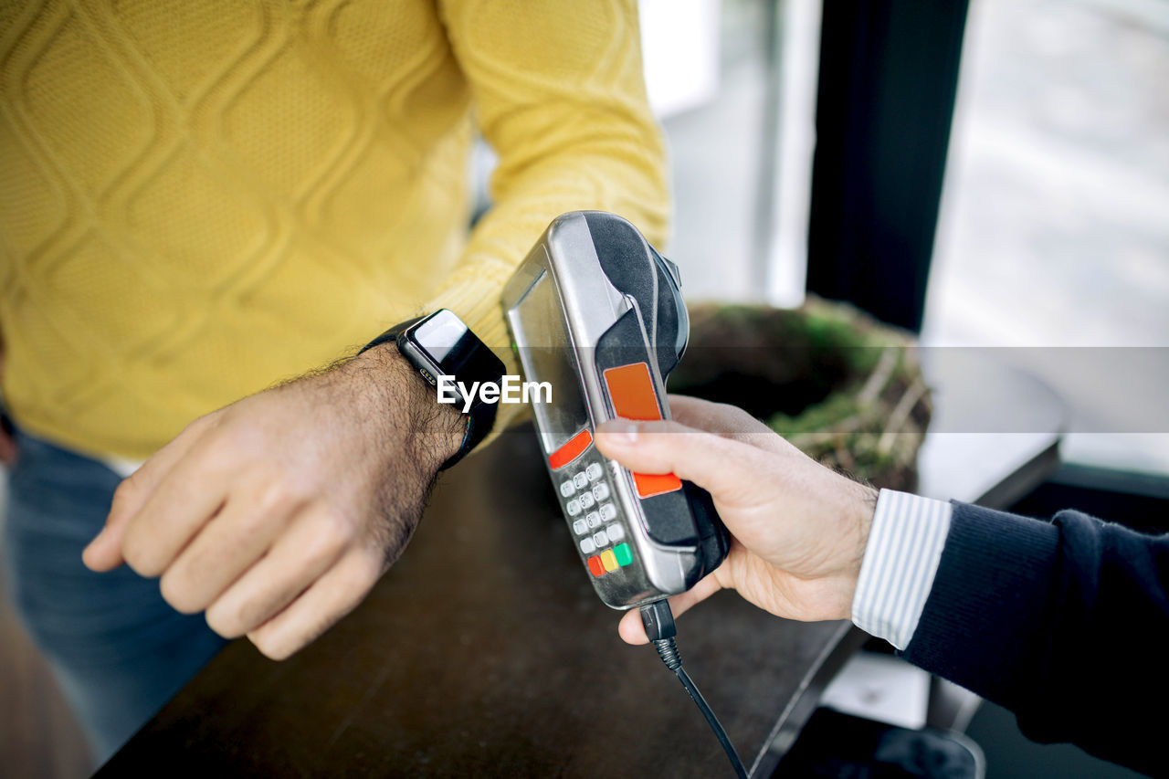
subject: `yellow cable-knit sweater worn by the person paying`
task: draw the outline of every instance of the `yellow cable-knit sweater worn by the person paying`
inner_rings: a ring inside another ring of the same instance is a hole
[[[634,0],[5,0],[0,56],[5,399],[84,451],[419,311],[505,356],[499,290],[565,211],[664,237]]]

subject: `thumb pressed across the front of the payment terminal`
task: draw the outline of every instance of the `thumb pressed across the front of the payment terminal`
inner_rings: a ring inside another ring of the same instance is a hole
[[[717,499],[738,494],[754,470],[745,460],[752,447],[673,421],[613,420],[596,430],[604,456],[637,474],[675,474],[694,482]]]

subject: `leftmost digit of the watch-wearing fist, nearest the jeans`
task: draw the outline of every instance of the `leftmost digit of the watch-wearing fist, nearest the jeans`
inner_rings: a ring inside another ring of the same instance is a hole
[[[201,416],[188,425],[173,441],[154,453],[141,468],[122,480],[113,494],[105,526],[82,552],[82,561],[94,571],[109,571],[122,565],[122,539],[130,521],[154,494],[159,482],[179,463],[209,423]]]

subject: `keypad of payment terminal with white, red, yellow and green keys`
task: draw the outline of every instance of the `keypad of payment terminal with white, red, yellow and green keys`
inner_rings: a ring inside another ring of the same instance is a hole
[[[586,456],[563,468],[558,476],[565,512],[572,519],[581,552],[589,556],[588,568],[593,575],[603,577],[632,564],[632,549],[623,540],[625,526],[611,501],[613,490],[604,466]]]

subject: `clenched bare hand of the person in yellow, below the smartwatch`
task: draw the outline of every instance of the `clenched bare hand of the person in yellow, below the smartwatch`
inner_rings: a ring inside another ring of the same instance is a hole
[[[85,565],[161,577],[174,608],[282,660],[397,559],[463,429],[378,346],[191,423],[118,487]]]

